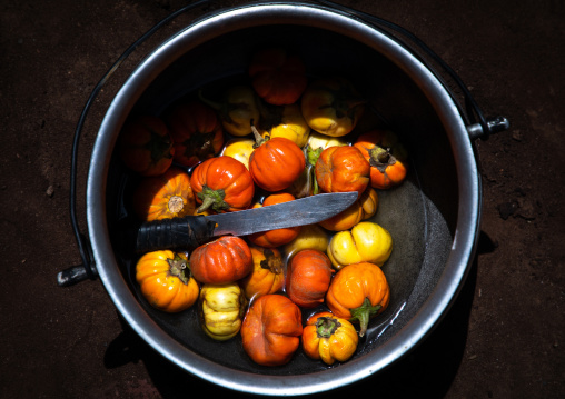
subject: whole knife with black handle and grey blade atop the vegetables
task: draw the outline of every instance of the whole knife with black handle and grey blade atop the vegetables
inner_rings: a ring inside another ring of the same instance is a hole
[[[313,225],[346,210],[357,197],[356,191],[320,193],[236,212],[145,222],[137,230],[135,250],[138,253],[160,249],[192,250],[214,237],[248,236]]]

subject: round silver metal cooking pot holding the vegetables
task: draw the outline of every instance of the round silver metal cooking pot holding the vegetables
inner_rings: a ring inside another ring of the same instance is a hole
[[[465,86],[427,47],[419,43],[415,51],[400,39],[415,39],[409,32],[323,3],[251,3],[195,21],[129,76],[103,118],[91,154],[87,218],[92,259],[88,240],[78,233],[87,258],[81,275],[99,276],[121,316],[159,353],[195,376],[237,391],[321,392],[376,373],[412,350],[455,300],[474,256],[482,188],[473,141],[507,128],[504,118],[483,117]],[[113,151],[126,119],[137,112],[159,114],[201,86],[221,87],[245,76],[250,53],[264,43],[298,51],[311,76],[350,78],[378,120],[402,137],[410,156],[407,180],[379,192],[379,211],[373,219],[395,243],[383,267],[391,288],[390,305],[371,321],[356,355],[334,367],[308,359],[300,349],[286,366],[260,367],[247,357],[239,339],[221,343],[208,339],[195,307],[179,315],[152,309],[132,279],[136,259],[113,239],[128,218],[127,193],[133,180]],[[459,86],[465,112],[429,58]]]

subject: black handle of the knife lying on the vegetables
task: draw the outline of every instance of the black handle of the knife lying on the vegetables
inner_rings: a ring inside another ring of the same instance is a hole
[[[136,252],[161,249],[190,251],[212,238],[215,223],[204,216],[149,221],[139,228]]]

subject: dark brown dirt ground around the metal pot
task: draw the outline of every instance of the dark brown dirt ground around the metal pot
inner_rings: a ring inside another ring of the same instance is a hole
[[[201,388],[239,397],[155,353],[121,323],[100,281],[69,288],[56,282],[60,270],[80,262],[69,176],[82,107],[122,51],[185,3],[0,3],[2,398],[180,398]],[[335,393],[370,387],[379,398],[564,397],[565,2],[339,3],[417,34],[459,73],[487,114],[505,116],[512,127],[477,142],[482,238],[457,302],[408,357]],[[167,26],[150,43],[190,18]],[[80,190],[97,123],[143,51],[125,62],[89,113]],[[81,200],[78,208],[83,223]]]

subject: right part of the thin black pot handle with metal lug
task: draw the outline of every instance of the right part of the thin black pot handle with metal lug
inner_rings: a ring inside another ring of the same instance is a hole
[[[437,64],[439,64],[442,67],[442,69],[454,80],[454,82],[458,86],[458,88],[463,92],[463,96],[465,99],[466,112],[462,112],[460,108],[459,108],[459,112],[462,113],[462,116],[466,117],[465,119],[467,120],[467,123],[468,123],[467,132],[468,132],[469,138],[472,140],[475,140],[478,138],[480,138],[482,140],[487,140],[490,137],[490,134],[507,130],[509,128],[509,121],[505,117],[499,116],[499,117],[494,117],[494,118],[486,118],[483,113],[483,110],[480,109],[478,103],[475,101],[469,89],[463,82],[463,80],[459,78],[459,76],[439,56],[437,56],[426,43],[424,43],[420,39],[418,39],[410,31],[406,30],[405,28],[402,28],[400,26],[398,26],[394,22],[384,20],[381,18],[375,17],[373,14],[369,14],[369,13],[366,13],[366,12],[363,12],[359,10],[355,10],[355,9],[347,7],[347,6],[337,4],[333,1],[316,0],[316,2],[318,2],[323,6],[327,6],[328,8],[331,8],[334,10],[339,10],[341,12],[345,12],[351,18],[361,20],[363,22],[368,23],[373,28],[377,29],[379,32],[388,36],[393,40],[398,41],[397,37],[393,37],[388,31],[384,30],[383,28],[388,28],[390,30],[394,30],[394,31],[400,33],[402,36],[404,36],[405,38],[408,38],[427,57],[429,57],[435,62],[437,62]],[[403,43],[403,44],[405,44],[406,49],[413,50],[412,47],[406,46],[406,43]],[[414,51],[412,51],[412,53],[429,68],[428,62],[423,60],[419,54],[415,53]],[[433,70],[433,69],[430,69],[430,70]],[[436,77],[437,77],[437,74],[436,74]],[[440,79],[439,77],[437,77],[437,78]],[[453,91],[449,89],[449,87],[447,87],[447,84],[445,84],[445,83],[444,83],[444,86],[445,86],[447,92],[449,92],[452,98],[454,98],[454,100],[455,100],[455,96],[454,96]],[[458,101],[455,100],[455,103],[458,104]]]

